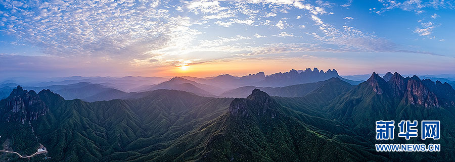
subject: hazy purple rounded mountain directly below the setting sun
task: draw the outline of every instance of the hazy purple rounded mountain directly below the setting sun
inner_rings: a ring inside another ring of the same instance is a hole
[[[195,81],[191,81],[181,77],[174,77],[169,81],[165,81],[157,85],[150,85],[148,87],[144,87],[144,90],[142,90],[142,92],[157,89],[182,90],[192,92],[194,94],[198,94],[201,96],[214,96],[214,94],[220,94],[222,91],[224,91],[223,89],[215,86],[200,84]]]

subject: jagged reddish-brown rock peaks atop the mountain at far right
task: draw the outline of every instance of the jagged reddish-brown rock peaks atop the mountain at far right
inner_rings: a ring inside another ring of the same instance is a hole
[[[395,72],[389,81],[380,78],[373,72],[367,83],[373,87],[377,94],[387,94],[394,96],[408,104],[422,105],[425,107],[438,107],[440,105],[451,104],[455,98],[455,90],[447,83],[442,84],[419,77],[403,78]]]

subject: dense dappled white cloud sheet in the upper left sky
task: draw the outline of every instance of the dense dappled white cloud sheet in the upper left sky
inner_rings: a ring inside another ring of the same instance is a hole
[[[188,44],[189,18],[158,1],[0,1],[0,30],[48,55],[139,56]]]

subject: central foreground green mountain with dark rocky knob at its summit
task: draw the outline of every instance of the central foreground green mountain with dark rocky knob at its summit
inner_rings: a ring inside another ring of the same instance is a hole
[[[342,136],[351,134],[345,127],[293,111],[280,99],[255,89],[166,149],[132,161],[386,161],[354,138],[344,143]]]

